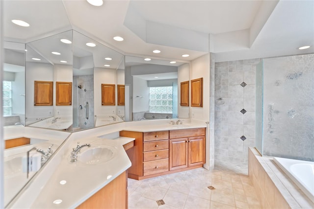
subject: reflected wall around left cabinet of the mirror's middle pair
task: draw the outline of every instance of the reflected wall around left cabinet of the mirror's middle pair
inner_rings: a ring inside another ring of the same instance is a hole
[[[116,84],[116,80],[115,69],[94,68],[94,111],[96,116],[116,114],[116,106],[102,105],[102,84]],[[119,80],[121,81],[121,76],[119,76]]]

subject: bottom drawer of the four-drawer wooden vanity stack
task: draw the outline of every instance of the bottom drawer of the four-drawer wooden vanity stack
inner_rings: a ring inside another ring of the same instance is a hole
[[[161,173],[169,170],[169,159],[150,161],[143,163],[144,176]]]

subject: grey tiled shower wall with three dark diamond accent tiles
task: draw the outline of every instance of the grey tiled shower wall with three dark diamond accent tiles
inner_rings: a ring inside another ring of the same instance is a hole
[[[255,70],[260,59],[215,63],[215,162],[246,163],[255,146]]]

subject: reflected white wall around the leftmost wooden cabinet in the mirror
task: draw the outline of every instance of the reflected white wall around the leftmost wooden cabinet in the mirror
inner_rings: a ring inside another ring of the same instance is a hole
[[[26,72],[26,117],[52,116],[53,106],[34,106],[34,81],[53,81],[53,66],[46,63],[26,62]]]

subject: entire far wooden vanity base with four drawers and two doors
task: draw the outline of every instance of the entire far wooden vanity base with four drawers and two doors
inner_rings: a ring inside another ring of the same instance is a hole
[[[121,137],[135,138],[127,150],[131,179],[142,180],[202,167],[205,163],[205,128],[156,132],[121,131]]]

